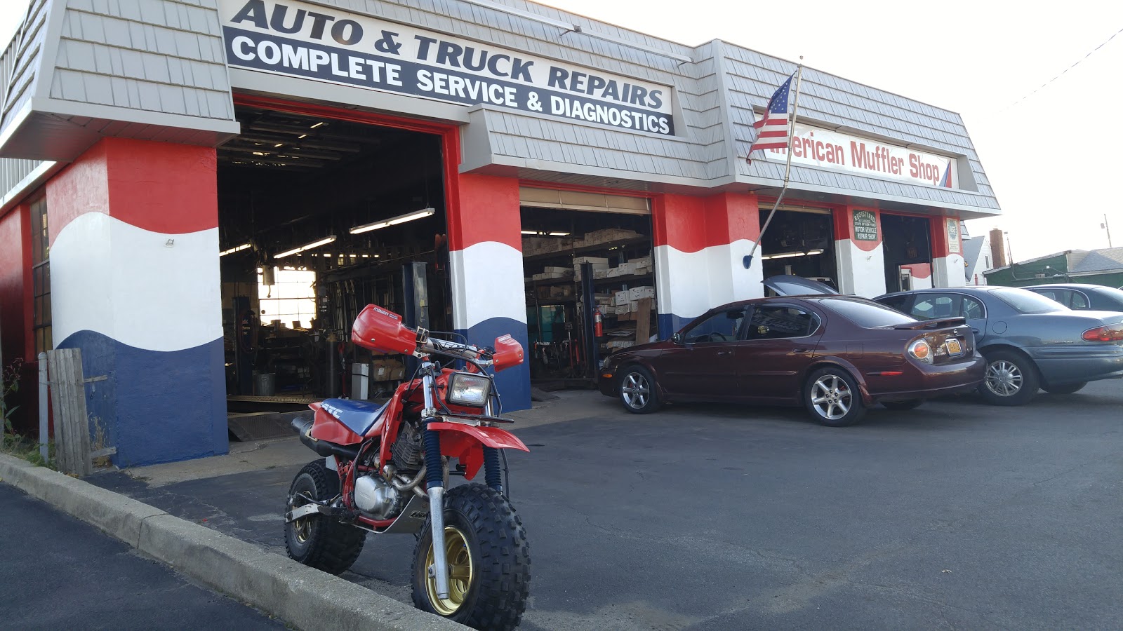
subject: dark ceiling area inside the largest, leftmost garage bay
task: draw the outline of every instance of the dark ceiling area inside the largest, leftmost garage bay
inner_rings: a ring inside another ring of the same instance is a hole
[[[222,250],[253,243],[245,254],[258,264],[323,271],[439,249],[446,220],[438,136],[247,107],[237,117],[241,135],[218,149]],[[427,208],[432,214],[349,232]]]

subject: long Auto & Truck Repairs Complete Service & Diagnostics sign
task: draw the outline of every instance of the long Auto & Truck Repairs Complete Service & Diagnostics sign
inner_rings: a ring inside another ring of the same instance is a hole
[[[405,25],[277,0],[220,0],[227,64],[669,136],[670,89]]]

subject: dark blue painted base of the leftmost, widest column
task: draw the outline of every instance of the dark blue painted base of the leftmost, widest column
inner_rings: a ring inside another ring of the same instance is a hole
[[[222,340],[158,351],[76,331],[57,348],[82,349],[86,408],[117,447],[113,464],[133,467],[226,454]],[[91,432],[93,428],[91,426]]]

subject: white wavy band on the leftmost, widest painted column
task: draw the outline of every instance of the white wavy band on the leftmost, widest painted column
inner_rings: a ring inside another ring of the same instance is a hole
[[[222,337],[218,228],[165,235],[88,212],[51,247],[51,285],[55,342],[91,330],[166,351]]]

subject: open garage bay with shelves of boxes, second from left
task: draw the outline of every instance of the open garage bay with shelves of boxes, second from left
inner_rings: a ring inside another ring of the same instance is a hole
[[[657,339],[646,198],[520,189],[531,383],[591,386],[604,357]]]

